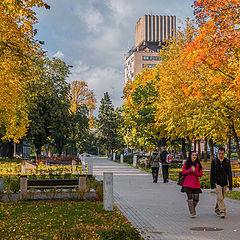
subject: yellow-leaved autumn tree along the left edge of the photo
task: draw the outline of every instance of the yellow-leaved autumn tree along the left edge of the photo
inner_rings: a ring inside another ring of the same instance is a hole
[[[29,125],[27,86],[38,76],[33,57],[42,55],[34,39],[34,7],[50,7],[41,0],[0,1],[0,133],[18,141]]]

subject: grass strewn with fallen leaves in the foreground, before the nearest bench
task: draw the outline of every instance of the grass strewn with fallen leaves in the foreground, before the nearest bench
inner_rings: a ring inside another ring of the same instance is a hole
[[[142,239],[114,208],[99,202],[2,202],[0,239]]]

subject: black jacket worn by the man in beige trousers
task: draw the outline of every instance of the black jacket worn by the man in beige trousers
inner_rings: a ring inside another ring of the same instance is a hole
[[[227,158],[224,158],[222,162],[218,158],[212,161],[210,182],[212,189],[216,187],[215,184],[224,187],[229,183],[229,190],[232,190],[232,169]]]

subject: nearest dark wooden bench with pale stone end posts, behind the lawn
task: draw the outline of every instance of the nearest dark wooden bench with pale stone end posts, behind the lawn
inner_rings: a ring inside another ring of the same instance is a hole
[[[30,189],[71,189],[78,188],[79,191],[86,191],[86,175],[80,175],[78,179],[27,179],[27,176],[20,177],[20,200],[28,199]]]

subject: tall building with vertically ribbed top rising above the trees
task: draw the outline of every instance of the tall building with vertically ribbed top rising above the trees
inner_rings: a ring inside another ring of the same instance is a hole
[[[133,80],[143,68],[160,63],[159,50],[175,35],[176,16],[144,15],[135,26],[135,46],[125,56],[125,83]]]

